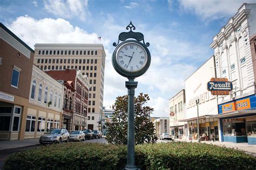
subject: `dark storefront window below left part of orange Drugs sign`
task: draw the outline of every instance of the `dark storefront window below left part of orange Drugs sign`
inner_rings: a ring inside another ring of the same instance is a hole
[[[223,120],[224,135],[246,135],[245,118],[233,118]]]

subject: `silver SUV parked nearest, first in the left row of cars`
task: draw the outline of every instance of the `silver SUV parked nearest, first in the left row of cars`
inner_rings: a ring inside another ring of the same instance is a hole
[[[51,129],[47,132],[45,132],[43,135],[41,135],[39,139],[39,143],[52,143],[52,142],[62,142],[62,141],[69,141],[69,132],[65,129],[59,129],[59,128],[54,128]]]

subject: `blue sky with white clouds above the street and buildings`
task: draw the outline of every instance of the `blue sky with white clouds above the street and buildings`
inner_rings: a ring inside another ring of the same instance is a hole
[[[253,1],[246,1],[246,3]],[[132,21],[151,53],[136,96],[147,93],[152,116],[169,117],[169,99],[206,62],[212,38],[245,3],[240,0],[17,0],[0,1],[0,22],[32,49],[36,43],[97,43],[106,52],[104,106],[127,94],[111,63],[114,42]],[[102,37],[101,40],[98,37]]]

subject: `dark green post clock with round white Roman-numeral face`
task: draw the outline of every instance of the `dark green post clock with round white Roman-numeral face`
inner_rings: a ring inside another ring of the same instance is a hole
[[[136,29],[132,22],[126,26],[126,30],[129,29],[129,32],[119,34],[118,43],[113,43],[116,49],[112,55],[112,64],[114,70],[128,78],[128,81],[125,81],[128,91],[127,164],[125,169],[137,169],[134,160],[134,94],[138,81],[134,81],[134,79],[142,76],[149,69],[151,55],[147,49],[150,44],[145,44],[142,33],[132,31]],[[119,44],[119,41],[122,43]]]

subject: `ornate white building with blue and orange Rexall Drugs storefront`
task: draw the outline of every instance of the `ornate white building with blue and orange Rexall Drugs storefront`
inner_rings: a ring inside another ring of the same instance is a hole
[[[221,141],[256,145],[255,33],[256,4],[244,3],[210,45],[217,77],[233,83],[230,95],[218,96]]]

